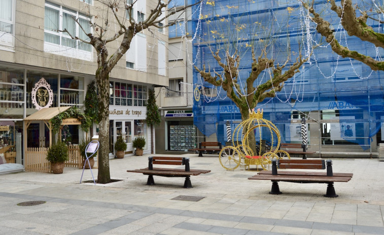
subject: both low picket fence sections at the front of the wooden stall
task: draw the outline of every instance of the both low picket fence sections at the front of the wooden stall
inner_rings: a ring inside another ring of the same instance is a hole
[[[51,163],[46,159],[48,148],[27,148],[25,154],[25,171],[51,173]],[[83,167],[83,159],[78,145],[68,145],[68,160],[65,167]]]

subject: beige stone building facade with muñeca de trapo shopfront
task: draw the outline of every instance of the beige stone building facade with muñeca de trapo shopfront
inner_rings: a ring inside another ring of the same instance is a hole
[[[45,105],[48,92],[43,89],[33,93],[42,78],[52,91],[49,107],[84,109],[87,85],[95,79],[96,53],[90,45],[71,39],[62,30],[87,40],[81,27],[92,30],[88,22],[98,20],[98,4],[92,0],[0,2],[0,147],[4,152],[17,154],[17,163],[22,163],[24,157],[23,119],[37,112],[32,100]],[[137,1],[132,10],[134,19],[145,19],[156,4],[157,1],[152,0]],[[124,17],[126,13],[122,10],[118,14]],[[109,26],[113,30],[118,28],[118,23],[110,22]],[[118,136],[128,144],[126,154],[134,153],[132,140],[138,136],[146,138],[145,153],[150,152],[151,133],[145,121],[148,89],[168,85],[167,38],[157,28],[137,33],[130,49],[110,74],[111,157],[115,155],[114,143]],[[107,45],[108,50],[117,50],[119,42],[117,39],[116,43]],[[97,135],[97,131],[94,125],[93,135]],[[71,144],[79,144],[85,137],[75,125],[64,126],[63,132],[62,137]],[[27,147],[48,146],[48,133],[43,122],[31,123],[27,129]]]

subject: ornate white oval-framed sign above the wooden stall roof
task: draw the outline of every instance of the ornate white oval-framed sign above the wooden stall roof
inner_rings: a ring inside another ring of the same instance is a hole
[[[53,91],[51,85],[41,78],[32,88],[32,104],[37,110],[49,108],[53,104]]]

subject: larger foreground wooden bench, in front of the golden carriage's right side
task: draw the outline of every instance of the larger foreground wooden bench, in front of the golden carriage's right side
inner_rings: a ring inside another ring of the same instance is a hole
[[[281,194],[277,182],[285,181],[292,183],[326,183],[328,184],[326,197],[337,197],[333,186],[334,182],[348,182],[352,179],[351,173],[333,173],[332,161],[327,160],[327,172],[298,172],[298,171],[277,171],[279,169],[326,169],[324,160],[293,160],[275,159],[272,160],[272,171],[262,171],[257,175],[248,178],[249,180],[271,180],[272,188],[270,194]]]

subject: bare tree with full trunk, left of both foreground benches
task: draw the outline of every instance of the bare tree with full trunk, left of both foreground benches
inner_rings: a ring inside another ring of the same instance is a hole
[[[146,19],[135,20],[133,8],[138,0],[95,0],[94,9],[89,11],[95,13],[94,22],[89,22],[92,32],[85,30],[79,19],[74,18],[81,29],[86,33],[88,39],[82,39],[71,35],[75,40],[90,44],[97,54],[97,69],[95,72],[96,84],[99,92],[99,166],[97,181],[99,183],[109,183],[111,181],[109,169],[109,74],[114,69],[120,58],[130,48],[133,37],[143,30],[151,30],[151,28],[165,28],[169,24],[159,24],[164,22],[170,15],[183,12],[187,7],[171,9],[166,12],[167,5],[171,0],[164,3],[161,0],[153,0],[154,7],[146,15]],[[130,3],[130,4],[129,4]],[[150,4],[148,4],[150,5]],[[117,22],[117,26],[111,25],[110,22]],[[109,43],[118,43],[118,48],[110,54],[108,50]]]

